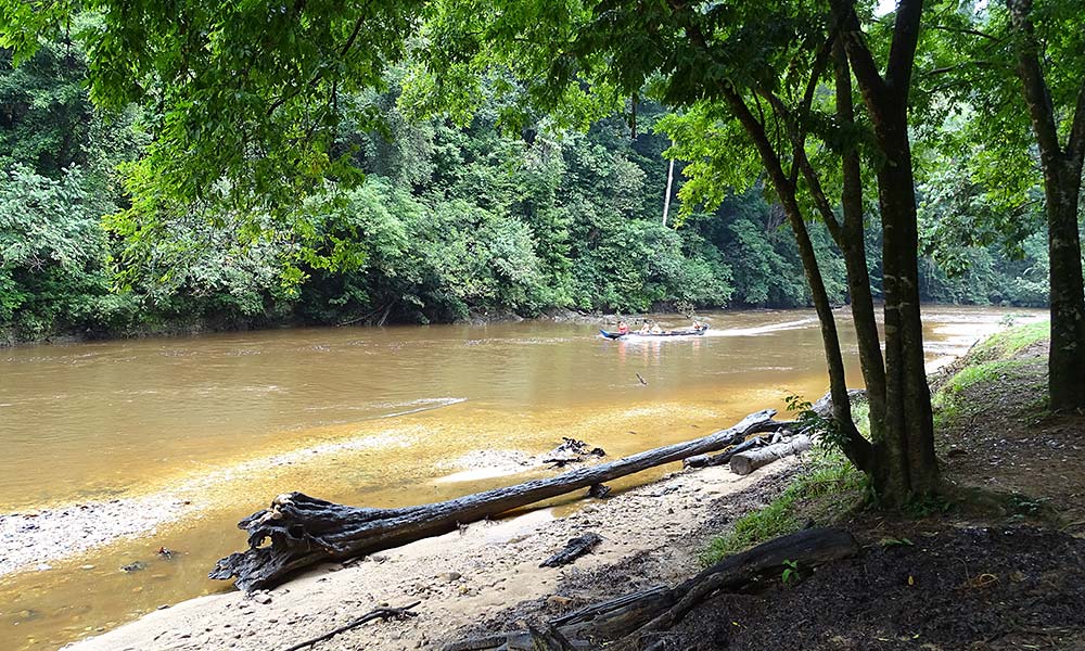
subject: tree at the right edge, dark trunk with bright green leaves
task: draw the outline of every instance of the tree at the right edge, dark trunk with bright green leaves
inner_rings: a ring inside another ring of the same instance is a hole
[[[966,3],[940,16],[932,92],[967,117],[983,152],[974,175],[1004,213],[1026,205],[1038,176],[1047,215],[1052,410],[1085,407],[1085,286],[1080,200],[1085,161],[1085,30],[1080,2]],[[1038,154],[1038,155],[1037,155]],[[1036,170],[1038,169],[1038,175]],[[1008,204],[1008,206],[1007,206]],[[994,228],[1014,233],[1018,224]]]

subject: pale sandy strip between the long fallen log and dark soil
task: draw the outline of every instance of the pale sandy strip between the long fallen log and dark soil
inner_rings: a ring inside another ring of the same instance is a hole
[[[417,617],[372,622],[321,651],[439,649],[486,622],[552,615],[644,585],[674,583],[698,566],[706,540],[782,487],[786,460],[740,477],[726,468],[677,472],[566,516],[538,510],[317,567],[258,598],[215,595],[151,613],[68,651],[196,651],[285,648],[380,604],[416,600]],[[574,536],[603,542],[562,569],[539,562]],[[266,603],[265,603],[266,602]]]

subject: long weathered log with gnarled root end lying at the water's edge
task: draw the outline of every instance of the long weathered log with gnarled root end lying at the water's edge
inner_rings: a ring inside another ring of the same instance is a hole
[[[628,474],[724,449],[758,432],[776,411],[751,413],[735,426],[703,438],[580,468],[553,477],[475,493],[465,497],[399,509],[348,507],[288,493],[268,509],[242,520],[248,549],[216,563],[210,578],[230,579],[243,590],[275,585],[291,572],[329,560],[344,560],[445,534],[461,524],[601,484]],[[265,541],[270,540],[270,545]]]

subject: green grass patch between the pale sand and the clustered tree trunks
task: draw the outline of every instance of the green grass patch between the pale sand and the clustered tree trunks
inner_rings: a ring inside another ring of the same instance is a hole
[[[860,421],[856,414],[855,420],[865,423],[867,419]],[[863,473],[843,454],[815,449],[802,473],[778,498],[743,515],[730,531],[714,538],[701,554],[701,562],[711,565],[765,540],[794,533],[815,512],[839,512],[863,486]]]

